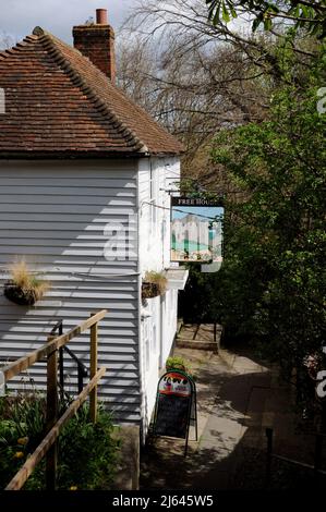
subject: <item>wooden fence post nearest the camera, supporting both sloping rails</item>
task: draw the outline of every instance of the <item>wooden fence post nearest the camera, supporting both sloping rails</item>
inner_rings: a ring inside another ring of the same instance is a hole
[[[50,336],[48,341],[56,337]],[[55,350],[47,357],[47,431],[49,431],[58,419],[58,351]],[[47,452],[46,481],[47,490],[56,489],[58,464],[58,441]]]

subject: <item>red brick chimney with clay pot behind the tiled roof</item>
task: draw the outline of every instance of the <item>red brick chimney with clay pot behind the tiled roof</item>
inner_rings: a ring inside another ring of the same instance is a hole
[[[116,82],[114,32],[108,24],[106,9],[96,9],[96,23],[73,27],[74,47]]]

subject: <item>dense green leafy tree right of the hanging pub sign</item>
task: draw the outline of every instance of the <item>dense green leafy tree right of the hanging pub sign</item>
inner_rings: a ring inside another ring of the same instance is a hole
[[[304,86],[274,95],[267,121],[220,131],[213,151],[246,194],[227,204],[221,319],[289,370],[325,341],[326,115],[316,106],[324,72],[322,51]]]

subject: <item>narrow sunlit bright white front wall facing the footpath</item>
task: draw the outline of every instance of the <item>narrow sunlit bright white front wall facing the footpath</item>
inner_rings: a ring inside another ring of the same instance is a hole
[[[170,195],[172,182],[180,179],[177,158],[140,160],[140,269],[161,271],[170,267]],[[158,208],[159,207],[159,208]],[[145,429],[155,406],[159,374],[171,350],[177,331],[178,292],[147,300],[150,317],[141,322],[143,348],[143,398]]]

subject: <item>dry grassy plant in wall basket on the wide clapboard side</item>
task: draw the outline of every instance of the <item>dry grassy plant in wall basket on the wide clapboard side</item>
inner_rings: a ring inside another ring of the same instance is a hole
[[[50,289],[47,281],[40,280],[24,260],[10,267],[11,279],[4,283],[4,295],[15,304],[32,306]]]

